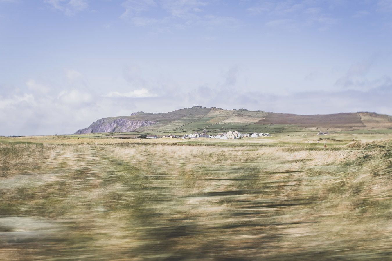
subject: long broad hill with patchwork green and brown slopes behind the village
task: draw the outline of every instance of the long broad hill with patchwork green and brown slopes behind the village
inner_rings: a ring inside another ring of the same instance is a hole
[[[75,134],[98,132],[183,133],[189,131],[281,132],[287,129],[356,130],[392,128],[392,117],[374,112],[297,115],[263,111],[223,110],[194,106],[165,113],[135,112],[103,118]]]

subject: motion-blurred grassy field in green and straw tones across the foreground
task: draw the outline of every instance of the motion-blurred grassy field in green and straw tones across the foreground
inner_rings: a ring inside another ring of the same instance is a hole
[[[390,258],[392,134],[316,133],[0,137],[0,260]]]

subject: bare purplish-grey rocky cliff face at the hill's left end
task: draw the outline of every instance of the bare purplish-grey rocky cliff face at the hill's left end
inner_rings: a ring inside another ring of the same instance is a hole
[[[88,128],[78,130],[75,134],[85,134],[94,132],[129,132],[134,131],[136,128],[143,126],[150,126],[156,121],[137,121],[127,119],[116,119],[108,121],[107,119],[100,119],[93,122]]]

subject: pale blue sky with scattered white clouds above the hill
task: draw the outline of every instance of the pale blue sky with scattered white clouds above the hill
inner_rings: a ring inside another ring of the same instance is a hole
[[[0,0],[0,135],[192,106],[392,115],[392,0]]]

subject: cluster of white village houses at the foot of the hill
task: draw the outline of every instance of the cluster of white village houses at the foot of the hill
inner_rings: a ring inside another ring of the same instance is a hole
[[[159,138],[172,138],[172,139],[198,139],[198,138],[205,138],[205,139],[220,139],[220,140],[235,140],[241,138],[257,138],[257,137],[264,137],[270,136],[269,133],[244,133],[242,134],[239,131],[227,131],[227,133],[218,133],[217,135],[210,135],[208,134],[207,130],[203,130],[202,133],[196,131],[194,133],[186,134],[186,135],[146,135],[146,139],[159,139]]]

